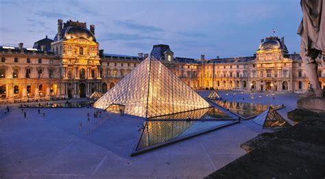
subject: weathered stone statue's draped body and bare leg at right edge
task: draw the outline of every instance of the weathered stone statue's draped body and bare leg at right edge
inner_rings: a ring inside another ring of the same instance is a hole
[[[322,66],[325,66],[325,0],[301,0],[303,18],[298,29],[301,36],[300,55],[306,67],[306,73],[311,83],[310,92],[302,97],[322,97],[323,91],[318,83],[318,55],[323,55]]]

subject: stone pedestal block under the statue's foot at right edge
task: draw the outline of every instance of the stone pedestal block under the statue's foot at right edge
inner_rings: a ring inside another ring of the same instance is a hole
[[[297,109],[325,113],[325,98],[302,98],[297,101]]]

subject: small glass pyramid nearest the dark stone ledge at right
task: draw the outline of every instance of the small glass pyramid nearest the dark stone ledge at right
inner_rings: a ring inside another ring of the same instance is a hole
[[[278,126],[291,126],[289,122],[282,118],[282,116],[272,107],[269,107],[263,113],[258,115],[254,120],[256,124],[263,126],[263,128],[268,127],[278,127]]]

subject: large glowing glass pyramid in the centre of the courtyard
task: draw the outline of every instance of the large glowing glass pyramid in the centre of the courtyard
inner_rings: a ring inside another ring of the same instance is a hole
[[[109,110],[114,105],[123,105],[125,114],[142,118],[210,107],[152,55],[99,98],[94,107]]]

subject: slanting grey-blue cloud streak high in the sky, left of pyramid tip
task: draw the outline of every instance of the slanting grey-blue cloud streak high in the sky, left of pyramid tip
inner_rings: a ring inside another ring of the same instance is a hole
[[[116,25],[119,25],[121,27],[125,27],[127,29],[134,29],[143,31],[146,33],[149,32],[163,32],[164,29],[161,29],[159,27],[154,27],[152,25],[141,25],[139,23],[134,23],[132,20],[115,20],[114,23]]]

